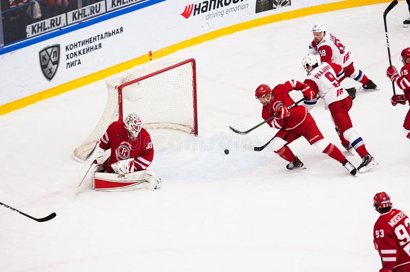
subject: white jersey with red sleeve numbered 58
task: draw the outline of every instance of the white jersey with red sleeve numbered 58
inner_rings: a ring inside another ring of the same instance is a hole
[[[326,33],[319,44],[313,40],[309,54],[319,54],[321,62],[334,62],[346,67],[353,62],[352,53],[332,33]]]

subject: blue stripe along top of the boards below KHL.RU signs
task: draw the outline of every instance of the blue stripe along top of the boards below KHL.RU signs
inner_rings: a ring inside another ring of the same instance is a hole
[[[144,1],[144,0],[142,0],[142,1]],[[140,1],[140,2],[142,2],[142,1]],[[3,54],[9,53],[9,52],[16,51],[18,49],[22,49],[22,48],[31,46],[32,44],[42,42],[42,41],[45,41],[45,40],[48,40],[48,39],[52,39],[54,37],[58,37],[58,36],[61,36],[61,35],[64,35],[64,34],[67,34],[67,33],[82,29],[82,28],[86,28],[86,27],[98,24],[101,21],[106,21],[106,20],[109,20],[109,19],[112,19],[112,18],[121,16],[121,15],[124,15],[124,14],[130,13],[130,12],[133,12],[133,11],[136,11],[136,10],[139,10],[139,9],[143,9],[143,8],[146,8],[146,7],[149,7],[149,6],[164,2],[164,1],[167,1],[167,0],[147,0],[145,2],[142,2],[142,3],[139,3],[139,4],[134,4],[134,5],[129,6],[127,8],[119,9],[119,10],[116,10],[116,11],[111,11],[111,12],[108,12],[104,15],[100,15],[98,17],[90,18],[86,21],[74,24],[72,26],[65,26],[61,29],[54,30],[53,32],[43,34],[43,35],[38,36],[38,37],[28,38],[27,40],[20,41],[20,42],[17,42],[15,44],[12,44],[10,46],[6,46],[5,48],[0,49],[0,56],[3,55]]]

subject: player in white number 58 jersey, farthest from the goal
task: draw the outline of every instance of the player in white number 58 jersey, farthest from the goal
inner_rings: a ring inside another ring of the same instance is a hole
[[[361,70],[355,69],[350,50],[347,49],[344,43],[332,35],[332,33],[326,32],[325,25],[314,25],[312,32],[314,39],[309,45],[308,54],[319,54],[321,62],[333,62],[342,66],[344,69],[344,75],[339,78],[339,82],[346,77],[349,77],[362,83],[362,87],[365,89],[377,88],[376,84],[372,80],[368,79]],[[356,88],[353,87],[346,90],[352,99],[355,99]]]

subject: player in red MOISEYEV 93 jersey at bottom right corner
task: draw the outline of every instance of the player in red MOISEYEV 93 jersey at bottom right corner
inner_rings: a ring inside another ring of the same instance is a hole
[[[410,220],[385,193],[377,193],[373,206],[380,213],[374,229],[375,249],[379,252],[383,268],[380,272],[410,271]]]

